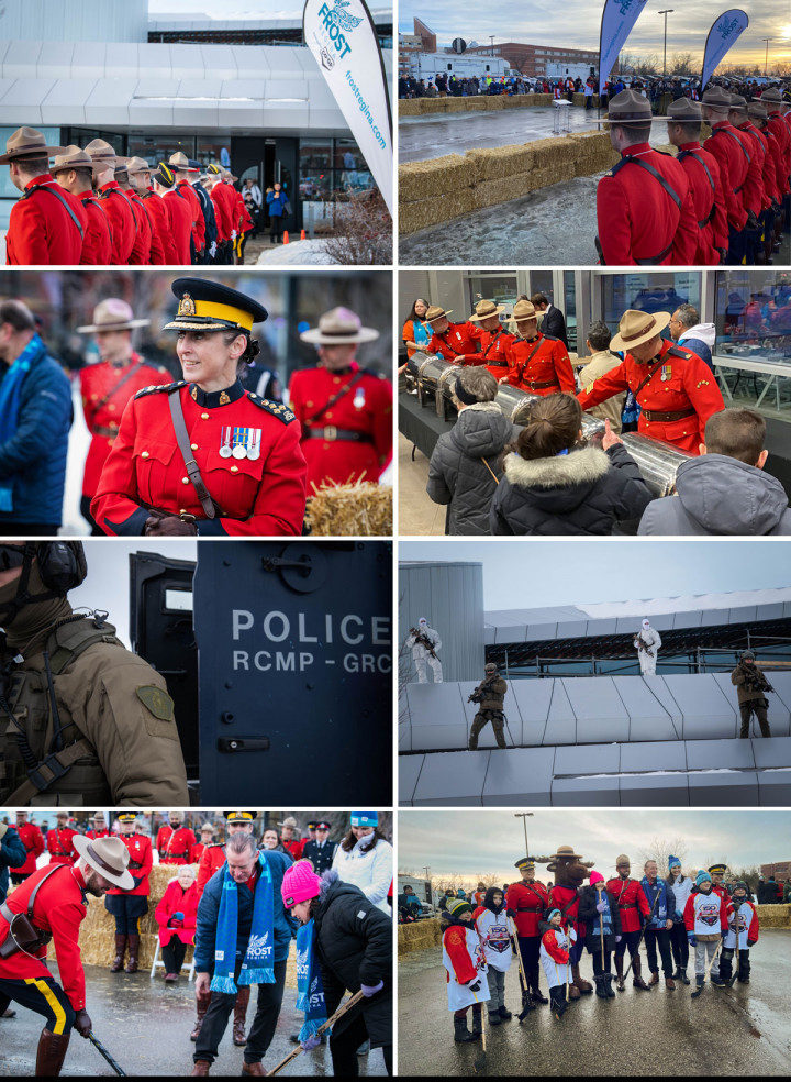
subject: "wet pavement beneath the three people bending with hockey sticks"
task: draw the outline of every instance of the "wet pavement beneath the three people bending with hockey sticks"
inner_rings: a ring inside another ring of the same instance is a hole
[[[194,1025],[194,985],[182,976],[176,986],[163,983],[161,976],[152,981],[148,973],[113,974],[96,965],[86,967],[88,1013],[93,1033],[127,1074],[151,1074],[160,1078],[189,1074],[192,1070],[194,1045],[189,1035]],[[247,1028],[255,1013],[253,992],[247,1011]],[[294,1011],[297,992],[286,989],[283,1006],[275,1039],[264,1058],[265,1068],[285,1059],[293,1051],[289,1035],[297,1033],[302,1014]],[[42,1019],[18,1004],[15,1018],[0,1019],[0,1077],[33,1075],[36,1046]],[[241,1074],[243,1048],[231,1040],[231,1025],[220,1045],[220,1055],[212,1074]],[[385,1074],[380,1050],[358,1058],[360,1075]],[[112,1075],[114,1072],[90,1041],[74,1034],[64,1063],[64,1075]],[[286,1075],[332,1075],[328,1046],[303,1052],[283,1071]]]

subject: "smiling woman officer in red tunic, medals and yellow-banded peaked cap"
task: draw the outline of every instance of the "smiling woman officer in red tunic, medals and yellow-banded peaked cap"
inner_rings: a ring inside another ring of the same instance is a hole
[[[300,533],[305,462],[300,426],[277,402],[246,391],[242,364],[267,311],[202,278],[177,278],[183,379],[141,390],[124,410],[91,514],[119,537]]]

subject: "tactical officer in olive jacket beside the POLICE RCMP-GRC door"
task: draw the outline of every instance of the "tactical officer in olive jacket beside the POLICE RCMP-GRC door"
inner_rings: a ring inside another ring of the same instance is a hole
[[[0,804],[189,805],[165,680],[68,603],[87,570],[79,541],[0,544]]]

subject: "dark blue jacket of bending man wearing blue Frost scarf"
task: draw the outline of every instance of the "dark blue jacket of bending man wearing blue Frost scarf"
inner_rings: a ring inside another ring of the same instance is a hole
[[[297,921],[289,910],[283,908],[280,884],[287,868],[291,866],[290,859],[285,853],[270,850],[263,852],[264,860],[269,865],[274,892],[274,929],[275,929],[275,961],[285,962],[288,958],[292,932]],[[225,865],[223,865],[224,868]],[[216,938],[218,919],[220,916],[220,897],[222,895],[223,869],[215,872],[205,885],[198,906],[198,928],[196,932],[194,963],[197,973],[214,971],[214,942]],[[255,895],[246,884],[239,884],[238,920],[236,929],[236,960],[244,958],[247,952],[250,929],[253,927],[253,904]]]

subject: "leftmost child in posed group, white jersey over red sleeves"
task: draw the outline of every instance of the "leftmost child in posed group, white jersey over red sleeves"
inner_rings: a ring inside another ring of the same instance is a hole
[[[466,898],[448,898],[448,924],[443,932],[443,963],[447,970],[448,1011],[454,1016],[454,1040],[478,1040],[483,1026],[482,1004],[489,1000],[489,986],[482,980],[488,967],[480,936],[472,924],[472,907]],[[472,1007],[472,1033],[467,1028],[467,1012]]]

